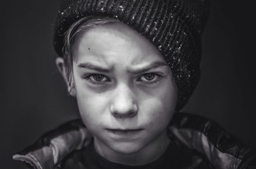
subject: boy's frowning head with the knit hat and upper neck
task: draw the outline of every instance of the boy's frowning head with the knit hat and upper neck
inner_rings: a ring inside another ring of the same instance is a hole
[[[56,63],[98,152],[144,152],[147,158],[145,153],[154,150],[157,156],[156,149],[160,153],[168,144],[166,126],[200,76],[204,5],[201,0],[62,2]]]

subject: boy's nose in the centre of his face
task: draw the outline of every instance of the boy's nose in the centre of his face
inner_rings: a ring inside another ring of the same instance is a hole
[[[127,85],[118,85],[113,92],[110,112],[116,118],[134,117],[138,114],[138,105],[134,92]]]

